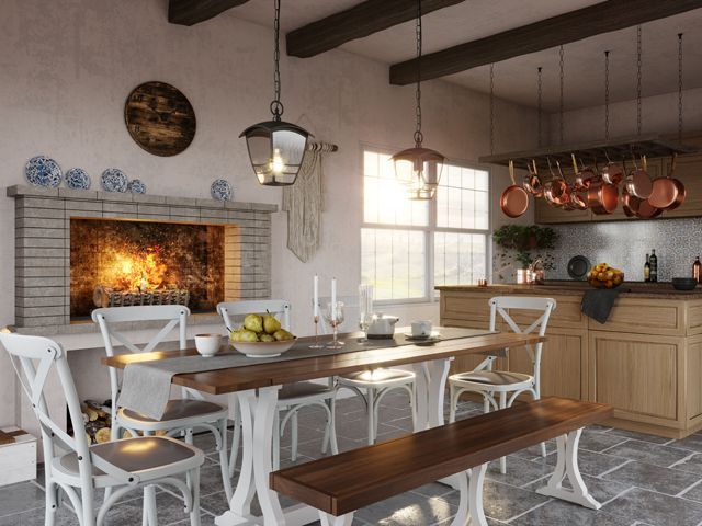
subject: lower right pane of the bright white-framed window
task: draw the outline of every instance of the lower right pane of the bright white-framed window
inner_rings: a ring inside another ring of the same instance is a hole
[[[471,285],[486,277],[484,233],[434,233],[434,285]]]

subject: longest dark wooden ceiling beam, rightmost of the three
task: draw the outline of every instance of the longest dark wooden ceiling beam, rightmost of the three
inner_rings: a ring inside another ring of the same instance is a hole
[[[699,8],[702,0],[609,0],[424,55],[421,78],[429,80],[457,73]],[[390,66],[392,84],[416,81],[416,58]]]

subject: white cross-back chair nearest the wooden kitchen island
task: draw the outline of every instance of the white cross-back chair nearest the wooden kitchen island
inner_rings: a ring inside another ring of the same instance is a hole
[[[546,333],[546,325],[551,312],[556,308],[556,300],[553,298],[529,297],[529,296],[497,296],[488,301],[490,306],[490,331],[495,331],[497,315],[507,325],[518,334],[530,334],[534,331],[540,336]],[[508,312],[509,309],[529,310],[539,313],[539,317],[526,329],[521,329]],[[492,370],[492,363],[497,356],[490,355],[485,358],[475,369],[469,373],[458,373],[449,377],[450,389],[450,413],[449,422],[455,422],[458,399],[464,392],[477,392],[483,397],[484,411],[487,413],[491,409],[509,408],[517,397],[522,392],[529,392],[534,400],[541,398],[541,352],[543,343],[526,345],[526,352],[531,358],[533,373],[525,375],[522,373],[511,373],[507,370]],[[499,401],[495,396],[499,393]],[[510,395],[511,393],[511,395]],[[510,395],[509,399],[507,396]],[[542,455],[546,456],[546,448],[541,444]],[[507,472],[507,460],[500,458],[500,471]]]

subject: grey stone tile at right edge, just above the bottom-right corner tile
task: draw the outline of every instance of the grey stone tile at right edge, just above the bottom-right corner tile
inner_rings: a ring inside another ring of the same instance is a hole
[[[699,474],[637,461],[629,462],[602,476],[602,478],[632,487],[654,490],[667,495],[677,495],[700,480]]]

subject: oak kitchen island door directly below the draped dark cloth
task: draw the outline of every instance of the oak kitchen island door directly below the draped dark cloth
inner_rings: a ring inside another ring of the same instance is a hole
[[[590,330],[590,398],[615,418],[670,426],[681,420],[683,353],[683,338]]]

